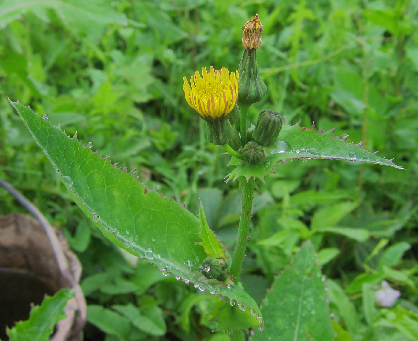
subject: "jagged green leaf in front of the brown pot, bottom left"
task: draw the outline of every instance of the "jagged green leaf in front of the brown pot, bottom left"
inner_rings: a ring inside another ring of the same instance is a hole
[[[41,305],[34,305],[28,321],[16,323],[7,333],[10,341],[48,341],[54,331],[56,323],[66,318],[64,308],[70,298],[74,296],[72,290],[63,289],[54,296],[46,296]]]

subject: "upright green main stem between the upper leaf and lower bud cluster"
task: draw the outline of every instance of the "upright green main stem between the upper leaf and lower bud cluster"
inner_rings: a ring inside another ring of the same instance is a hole
[[[231,276],[235,277],[235,283],[238,283],[240,280],[242,262],[244,261],[245,249],[247,248],[248,232],[250,230],[253,190],[254,187],[251,183],[244,184],[240,226],[238,228],[238,237],[235,244],[234,257],[232,258],[231,271],[229,272]]]

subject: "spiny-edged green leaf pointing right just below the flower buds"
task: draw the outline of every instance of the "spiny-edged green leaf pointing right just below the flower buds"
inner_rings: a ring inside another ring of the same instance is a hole
[[[250,178],[259,178],[264,182],[264,177],[268,173],[273,173],[273,168],[278,162],[302,158],[359,161],[403,169],[395,165],[392,160],[380,158],[376,155],[377,152],[364,150],[361,147],[362,142],[357,145],[347,143],[348,135],[335,136],[334,130],[335,128],[327,132],[323,129],[318,131],[315,125],[305,128],[300,126],[300,122],[292,126],[283,124],[279,140],[273,147],[264,148],[267,156],[260,163],[250,165],[233,157],[230,164],[237,167],[225,178],[227,181],[235,181],[244,176],[247,182]]]

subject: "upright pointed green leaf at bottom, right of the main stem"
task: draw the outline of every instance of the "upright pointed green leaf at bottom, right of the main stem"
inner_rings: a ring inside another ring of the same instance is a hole
[[[314,246],[303,244],[282,275],[275,279],[261,307],[265,331],[257,340],[334,340],[324,282]]]

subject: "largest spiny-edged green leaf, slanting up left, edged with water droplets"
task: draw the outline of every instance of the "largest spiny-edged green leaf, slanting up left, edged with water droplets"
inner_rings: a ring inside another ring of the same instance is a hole
[[[131,254],[156,265],[199,290],[227,296],[255,310],[249,328],[262,325],[258,305],[242,288],[208,280],[199,265],[206,257],[198,218],[171,198],[140,183],[136,171],[117,168],[92,144],[82,146],[59,127],[36,115],[29,107],[11,102],[32,136],[59,173],[72,198],[105,237]]]

